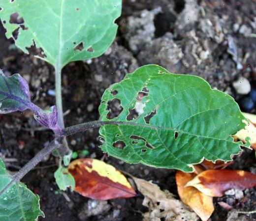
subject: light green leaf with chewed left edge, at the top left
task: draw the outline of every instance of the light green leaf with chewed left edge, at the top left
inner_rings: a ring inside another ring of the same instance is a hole
[[[0,19],[6,37],[19,35],[15,44],[25,53],[33,44],[43,59],[63,67],[70,61],[102,55],[113,42],[122,0],[1,0]],[[18,13],[23,24],[10,23]]]

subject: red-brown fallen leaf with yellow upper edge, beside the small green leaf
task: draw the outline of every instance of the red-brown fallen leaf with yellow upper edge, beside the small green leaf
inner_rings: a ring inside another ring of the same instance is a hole
[[[136,195],[127,178],[114,166],[103,161],[78,159],[71,162],[68,171],[75,179],[74,191],[83,196],[108,200]]]

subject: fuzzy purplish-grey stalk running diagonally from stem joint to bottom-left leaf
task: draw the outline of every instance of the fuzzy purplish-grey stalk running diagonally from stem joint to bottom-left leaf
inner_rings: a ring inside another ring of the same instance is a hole
[[[32,168],[40,163],[46,155],[59,148],[62,145],[63,138],[63,136],[55,138],[49,143],[48,146],[40,150],[25,166],[19,170],[19,172],[12,176],[11,181],[0,191],[0,195],[4,193],[10,186],[12,186],[12,184],[21,180],[30,170],[32,170]]]

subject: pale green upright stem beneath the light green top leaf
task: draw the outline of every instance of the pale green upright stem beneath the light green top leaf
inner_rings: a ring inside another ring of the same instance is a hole
[[[55,67],[55,94],[56,94],[56,108],[58,112],[58,124],[61,129],[64,129],[64,116],[62,106],[62,68],[59,64]],[[63,145],[59,150],[60,157],[70,152],[66,138],[63,139]]]

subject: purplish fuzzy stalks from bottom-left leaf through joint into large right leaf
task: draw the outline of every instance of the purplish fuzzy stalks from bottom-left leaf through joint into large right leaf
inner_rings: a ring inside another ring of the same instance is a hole
[[[59,148],[59,151],[63,148],[64,145],[64,139],[66,136],[70,136],[73,134],[77,134],[79,132],[87,131],[89,129],[98,128],[102,125],[122,125],[122,124],[130,124],[134,125],[134,123],[128,123],[128,122],[117,122],[117,121],[91,121],[87,123],[77,124],[71,127],[67,127],[64,129],[64,133],[60,137],[56,137],[53,141],[50,142],[50,144],[43,148],[41,151],[39,151],[24,167],[22,167],[19,172],[17,172],[15,175],[12,176],[11,181],[7,184],[7,186],[0,191],[0,195],[4,193],[12,184],[15,182],[18,182],[21,180],[34,166],[36,166],[39,162],[42,161],[42,159],[50,154],[53,150]]]

